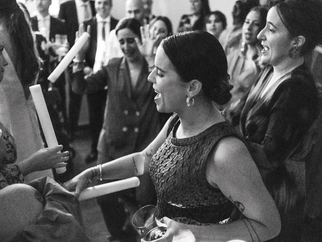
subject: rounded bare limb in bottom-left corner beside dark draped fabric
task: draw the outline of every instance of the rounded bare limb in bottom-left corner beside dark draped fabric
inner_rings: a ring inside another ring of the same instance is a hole
[[[42,195],[33,187],[14,184],[0,190],[0,241],[12,240],[43,210]]]

